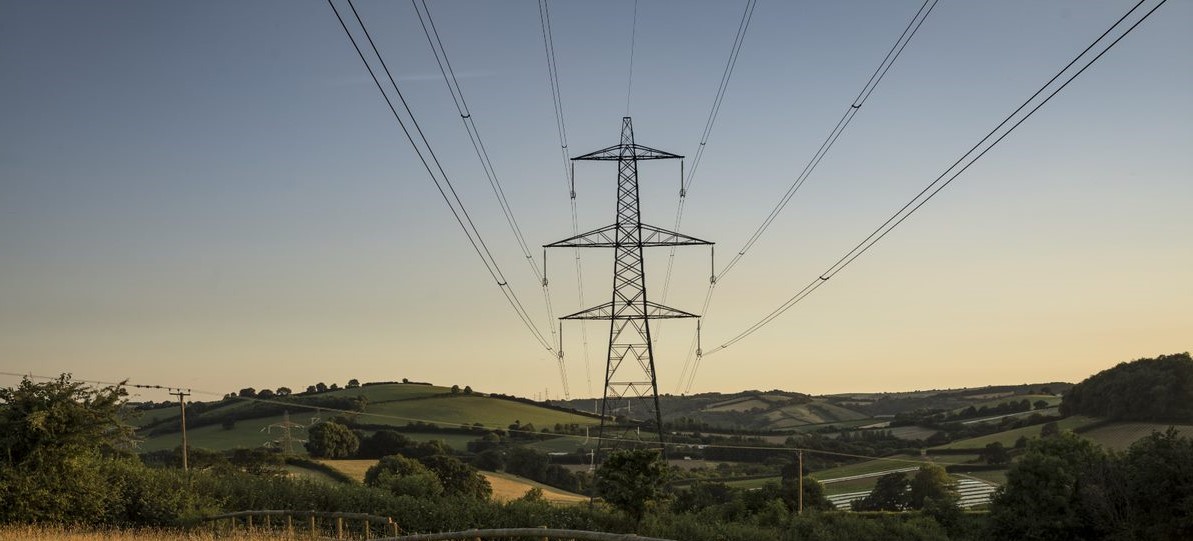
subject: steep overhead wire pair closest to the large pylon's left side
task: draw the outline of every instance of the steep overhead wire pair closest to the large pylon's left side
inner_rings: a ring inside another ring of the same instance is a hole
[[[563,93],[560,90],[560,68],[558,63],[555,61],[555,35],[551,32],[551,7],[548,0],[538,0],[538,23],[543,30],[543,53],[546,56],[546,81],[548,86],[551,88],[551,103],[555,106],[555,128],[560,136],[560,156],[563,164],[563,176],[567,179],[568,199],[571,207],[571,235],[575,236],[580,234],[580,219],[576,213],[576,179],[573,176],[574,170],[570,167],[570,160],[568,160],[568,127],[567,123],[563,122]],[[580,302],[579,306],[588,306],[585,302],[585,275],[580,260],[580,247],[575,248],[575,257],[573,260],[576,266],[576,299]],[[544,263],[544,268],[545,266],[546,265]],[[544,276],[546,275],[545,269],[543,273]],[[588,385],[588,394],[592,394],[593,379],[592,363],[588,356],[588,326],[585,321],[580,321],[580,336],[585,356],[585,381]],[[562,355],[562,333],[560,344],[560,355]]]

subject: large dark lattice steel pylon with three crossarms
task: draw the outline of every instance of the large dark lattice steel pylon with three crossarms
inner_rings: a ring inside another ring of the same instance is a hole
[[[711,245],[712,242],[682,235],[642,223],[638,205],[638,161],[680,159],[681,155],[636,145],[630,117],[622,118],[622,143],[602,148],[573,161],[617,161],[617,221],[612,226],[594,229],[544,245],[546,248],[613,248],[613,297],[561,320],[608,320],[608,357],[605,364],[605,392],[601,400],[600,438],[598,456],[605,441],[606,414],[610,401],[625,399],[645,402],[645,407],[633,410],[647,413],[642,417],[653,424],[659,434],[659,447],[663,444],[662,412],[659,408],[659,381],[655,377],[654,345],[650,340],[650,320],[696,318],[696,314],[669,308],[647,300],[647,273],[643,265],[643,248],[654,246]],[[628,417],[629,417],[629,412]],[[637,426],[629,419],[626,430]],[[598,459],[599,460],[599,459]]]

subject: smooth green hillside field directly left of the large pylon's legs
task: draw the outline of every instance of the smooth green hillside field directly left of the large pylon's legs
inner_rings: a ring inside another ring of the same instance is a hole
[[[426,400],[402,400],[370,405],[357,416],[358,423],[404,426],[409,422],[441,426],[471,425],[506,429],[514,422],[533,423],[536,430],[562,424],[599,424],[600,419],[548,410],[530,404],[477,395],[453,395]]]

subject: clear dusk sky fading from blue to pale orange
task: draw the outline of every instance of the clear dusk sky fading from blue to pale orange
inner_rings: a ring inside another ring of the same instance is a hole
[[[617,143],[629,102],[637,142],[691,166],[744,5],[642,0],[635,16],[632,1],[550,2],[569,153]],[[718,281],[703,349],[818,276],[1131,5],[941,0]],[[540,257],[537,246],[570,236],[571,215],[538,5],[428,6]],[[357,7],[548,333],[557,322],[414,8]],[[680,228],[717,242],[716,265],[919,7],[758,4]],[[690,388],[680,374],[694,321],[655,325],[660,392],[1080,381],[1193,349],[1189,27],[1193,2],[1166,4],[854,264],[703,358]],[[0,371],[128,379],[198,399],[403,377],[564,394],[555,354],[489,278],[326,2],[4,0],[0,74]],[[577,165],[581,229],[613,221],[616,179],[612,164]],[[643,221],[669,228],[678,164],[642,164],[639,180]],[[662,289],[667,254],[647,258],[648,294]],[[548,257],[556,315],[608,297],[612,253],[583,252],[582,282],[570,252]],[[709,273],[707,248],[680,250],[667,303],[698,311]],[[564,325],[571,396],[600,395],[607,330]]]

